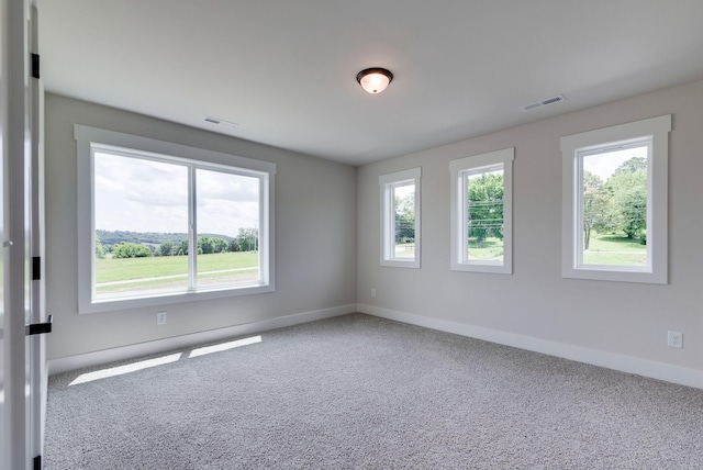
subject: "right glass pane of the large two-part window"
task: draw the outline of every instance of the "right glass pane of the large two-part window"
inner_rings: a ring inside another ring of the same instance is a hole
[[[260,280],[258,178],[198,169],[198,286]]]

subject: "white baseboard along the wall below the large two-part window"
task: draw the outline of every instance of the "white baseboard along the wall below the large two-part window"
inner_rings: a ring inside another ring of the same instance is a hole
[[[158,339],[155,342],[140,343],[119,348],[103,349],[76,356],[67,356],[48,361],[48,373],[55,374],[69,370],[82,369],[85,367],[99,366],[101,363],[115,360],[132,359],[150,354],[165,352],[179,348],[187,348],[205,343],[219,342],[236,336],[250,335],[266,332],[274,328],[298,325],[300,323],[313,322],[315,320],[331,318],[333,316],[345,315],[356,312],[356,304],[333,306],[330,309],[315,310],[312,312],[295,313],[292,315],[279,316],[260,322],[246,323],[243,325],[230,326],[226,328],[211,329],[208,332],[193,333],[190,335],[176,336],[172,338]]]

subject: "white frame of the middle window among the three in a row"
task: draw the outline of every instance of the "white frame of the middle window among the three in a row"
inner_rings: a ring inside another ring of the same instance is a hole
[[[513,273],[513,159],[515,147],[449,161],[451,176],[451,265],[453,271]],[[502,169],[503,171],[503,260],[469,260],[466,177]]]

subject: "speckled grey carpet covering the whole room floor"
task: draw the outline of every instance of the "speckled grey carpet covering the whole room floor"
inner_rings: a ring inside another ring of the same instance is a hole
[[[51,377],[46,468],[703,468],[703,390],[362,314],[258,339]]]

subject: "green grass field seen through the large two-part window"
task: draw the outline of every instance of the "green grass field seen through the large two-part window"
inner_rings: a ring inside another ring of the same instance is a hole
[[[198,255],[198,273],[201,284],[257,279],[258,253]],[[96,277],[98,294],[182,288],[188,284],[188,257],[98,259]]]

